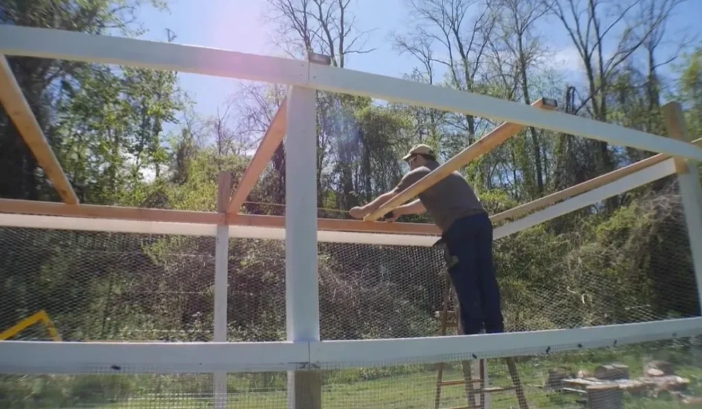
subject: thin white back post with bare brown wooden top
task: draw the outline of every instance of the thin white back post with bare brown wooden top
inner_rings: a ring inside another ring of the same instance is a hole
[[[223,220],[217,225],[215,244],[215,342],[227,342],[227,271],[229,270],[229,227],[226,223],[232,175],[220,172],[217,211]],[[227,373],[213,373],[215,409],[227,408]]]

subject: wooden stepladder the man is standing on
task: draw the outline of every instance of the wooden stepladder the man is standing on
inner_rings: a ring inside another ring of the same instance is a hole
[[[450,305],[453,307],[451,309]],[[436,311],[435,315],[441,320],[441,335],[447,335],[447,328],[456,328],[456,334],[463,334],[463,326],[461,325],[461,312],[458,308],[458,299],[456,298],[456,291],[453,290],[453,283],[451,282],[451,276],[446,274],[446,291],[444,292],[444,302],[442,306],[442,311]],[[453,319],[449,320],[449,316]],[[479,377],[472,377],[472,368],[470,367],[470,361],[461,361],[461,367],[463,369],[463,379],[461,380],[448,380],[443,379],[444,376],[444,366],[445,363],[438,364],[438,377],[437,377],[437,389],[435,396],[435,409],[439,409],[441,404],[441,390],[442,387],[451,387],[457,385],[463,385],[465,387],[465,394],[468,398],[468,406],[461,406],[452,409],[484,409],[485,408],[485,394],[491,394],[494,392],[508,391],[514,389],[517,395],[517,401],[519,401],[519,409],[529,409],[527,405],[527,396],[524,394],[524,388],[522,387],[522,382],[519,381],[519,374],[517,373],[517,366],[512,358],[504,358],[507,368],[510,372],[510,377],[512,378],[512,387],[485,387],[486,378],[486,365],[485,360],[479,360]],[[474,389],[475,384],[479,384],[478,389]],[[475,401],[476,392],[480,396],[479,403]]]

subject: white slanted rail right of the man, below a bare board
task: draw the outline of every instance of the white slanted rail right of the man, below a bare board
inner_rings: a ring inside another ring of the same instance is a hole
[[[509,236],[510,234],[521,232],[522,230],[529,229],[529,227],[536,226],[536,224],[540,224],[567,213],[571,213],[574,210],[593,205],[611,196],[622,194],[628,190],[635,189],[646,185],[647,183],[654,182],[655,180],[662,179],[663,177],[673,175],[673,173],[675,173],[675,162],[673,159],[656,163],[654,166],[649,166],[648,168],[638,170],[631,175],[622,177],[621,179],[615,180],[607,185],[597,187],[597,189],[592,189],[590,192],[580,194],[526,217],[522,217],[519,220],[515,220],[514,222],[498,227],[495,229],[493,234],[494,240],[501,239],[505,236]]]

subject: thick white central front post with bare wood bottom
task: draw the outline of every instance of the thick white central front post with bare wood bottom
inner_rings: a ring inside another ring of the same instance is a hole
[[[317,279],[317,93],[292,87],[288,93],[285,142],[286,329],[293,342],[319,341]],[[288,373],[291,409],[322,407],[318,371]]]

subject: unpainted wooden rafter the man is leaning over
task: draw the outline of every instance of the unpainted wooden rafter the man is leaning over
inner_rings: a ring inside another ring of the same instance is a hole
[[[544,100],[542,98],[531,104],[531,106],[544,109],[555,109],[555,102],[552,102],[551,100]],[[424,192],[426,189],[436,185],[440,180],[444,179],[444,177],[462,168],[470,161],[477,159],[487,152],[490,152],[492,149],[495,149],[499,145],[502,145],[506,140],[518,133],[519,130],[522,130],[522,128],[524,128],[524,126],[518,123],[505,122],[501,124],[492,130],[491,133],[485,135],[483,138],[477,140],[477,142],[463,149],[461,152],[456,154],[456,156],[453,156],[453,158],[446,161],[446,163],[442,164],[442,166],[439,166],[425,177],[422,177],[420,180],[415,182],[414,185],[411,185],[402,193],[385,202],[383,206],[380,206],[380,208],[378,208],[376,211],[364,217],[364,220],[378,220],[380,217],[383,217],[393,209],[397,208],[397,206],[402,205],[402,203],[409,201],[409,199],[412,199],[418,194]]]

